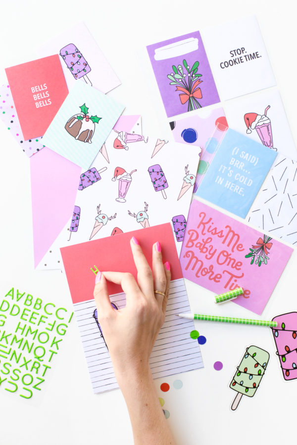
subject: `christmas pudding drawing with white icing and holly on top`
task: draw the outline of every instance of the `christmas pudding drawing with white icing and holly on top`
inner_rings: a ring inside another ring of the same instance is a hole
[[[65,129],[71,136],[75,137],[75,139],[81,140],[82,142],[89,142],[89,144],[91,144],[95,132],[95,124],[98,124],[101,118],[98,116],[89,116],[89,108],[85,103],[80,109],[81,113],[72,116],[67,121]]]

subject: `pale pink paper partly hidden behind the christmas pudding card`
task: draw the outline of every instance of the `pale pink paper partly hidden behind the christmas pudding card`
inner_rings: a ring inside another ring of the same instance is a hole
[[[116,126],[130,132],[139,119],[139,115],[122,116]],[[37,267],[72,215],[81,168],[44,147],[30,158],[30,169],[34,266]]]

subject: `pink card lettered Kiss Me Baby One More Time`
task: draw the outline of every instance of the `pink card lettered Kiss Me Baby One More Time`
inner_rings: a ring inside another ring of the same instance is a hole
[[[216,294],[244,289],[234,303],[261,314],[293,249],[193,200],[180,263],[183,275]]]

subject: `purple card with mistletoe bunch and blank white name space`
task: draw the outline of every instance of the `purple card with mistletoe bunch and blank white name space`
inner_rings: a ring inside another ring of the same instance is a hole
[[[168,117],[220,101],[199,31],[147,50]]]

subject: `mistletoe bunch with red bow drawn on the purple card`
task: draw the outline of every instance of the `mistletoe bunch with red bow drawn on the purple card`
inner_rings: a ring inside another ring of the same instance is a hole
[[[182,65],[178,65],[178,67],[172,65],[173,73],[168,74],[167,77],[171,80],[170,85],[176,86],[176,91],[182,91],[179,95],[182,104],[188,102],[188,111],[192,111],[202,107],[197,100],[202,99],[201,89],[198,88],[198,85],[203,82],[198,79],[202,74],[197,73],[198,61],[194,63],[191,69],[186,59],[183,60],[183,65],[184,68]]]

